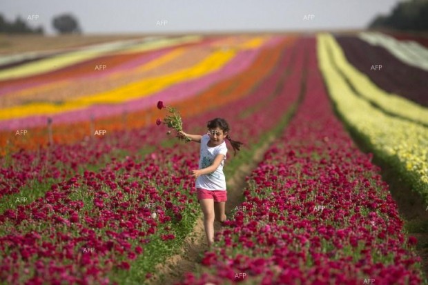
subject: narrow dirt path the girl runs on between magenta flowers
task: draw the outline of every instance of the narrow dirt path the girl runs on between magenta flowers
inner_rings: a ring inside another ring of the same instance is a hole
[[[235,175],[228,180],[226,215],[242,203],[242,193],[246,187],[245,177],[251,174],[251,171],[262,161],[264,153],[274,139],[273,135],[269,137],[266,143],[256,150],[251,163],[240,166]],[[215,232],[220,230],[220,228],[220,223],[214,222]],[[159,264],[155,270],[157,274],[150,279],[150,283],[148,284],[160,285],[166,284],[166,281],[168,284],[174,284],[175,282],[182,281],[184,273],[193,272],[200,266],[204,250],[208,250],[208,246],[206,244],[204,222],[201,214],[200,218],[197,219],[193,232],[186,237],[182,252],[179,255],[169,257],[164,264]]]

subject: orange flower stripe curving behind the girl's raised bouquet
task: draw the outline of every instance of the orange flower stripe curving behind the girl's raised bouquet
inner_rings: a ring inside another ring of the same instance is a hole
[[[249,68],[240,74],[219,81],[193,97],[175,102],[173,106],[177,107],[182,117],[186,119],[249,95],[257,82],[268,75],[278,63],[282,50],[294,42],[295,37],[286,37],[276,46],[262,48]],[[106,129],[108,132],[143,128],[155,124],[159,115],[158,111],[156,106],[153,106],[146,110],[95,119],[94,126],[95,129]],[[88,137],[89,132],[90,121],[52,126],[53,141],[56,144],[72,144],[81,141],[84,137]],[[0,148],[2,150],[0,155],[19,150],[19,148],[36,150],[39,146],[48,144],[48,131],[45,126],[32,128],[29,133],[30,135],[23,138],[11,135],[11,131],[0,131]]]

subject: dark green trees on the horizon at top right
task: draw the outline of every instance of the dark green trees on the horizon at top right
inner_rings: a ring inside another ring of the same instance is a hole
[[[388,16],[378,16],[369,28],[394,30],[428,30],[428,0],[400,2]]]

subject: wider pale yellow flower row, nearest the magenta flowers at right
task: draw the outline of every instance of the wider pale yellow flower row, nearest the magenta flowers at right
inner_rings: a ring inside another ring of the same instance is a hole
[[[385,112],[353,92],[333,65],[331,35],[318,35],[318,63],[329,95],[345,123],[356,130],[380,155],[409,179],[412,188],[428,197],[428,129]],[[367,87],[361,92],[372,90]],[[428,199],[427,199],[428,201]]]

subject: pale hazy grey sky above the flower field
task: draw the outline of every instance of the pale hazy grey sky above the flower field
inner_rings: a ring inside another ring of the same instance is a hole
[[[163,33],[365,28],[400,0],[1,0],[17,15],[54,35],[52,17],[70,12],[84,33]],[[28,15],[37,14],[35,21]],[[313,16],[310,16],[313,15]],[[305,19],[306,16],[306,19]],[[162,22],[160,22],[162,21]]]

